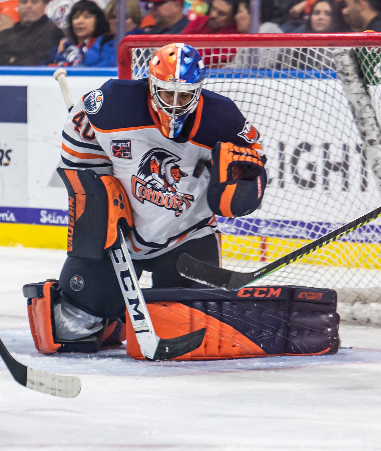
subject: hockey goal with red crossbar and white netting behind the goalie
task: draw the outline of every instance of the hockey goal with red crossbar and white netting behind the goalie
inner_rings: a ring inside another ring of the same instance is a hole
[[[381,205],[380,34],[131,36],[119,48],[119,77],[146,77],[152,52],[176,41],[200,51],[204,88],[236,103],[259,129],[268,157],[260,208],[217,218],[224,267],[253,271]],[[365,96],[353,92],[348,68],[338,61],[349,55]],[[375,139],[362,138],[352,112],[358,97],[376,117]],[[342,318],[381,324],[381,221],[262,284],[333,288]]]

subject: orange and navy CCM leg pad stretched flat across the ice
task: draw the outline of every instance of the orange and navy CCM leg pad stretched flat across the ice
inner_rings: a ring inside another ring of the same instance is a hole
[[[206,327],[196,350],[175,360],[214,360],[271,355],[334,354],[339,315],[334,290],[297,286],[143,290],[161,338]],[[166,300],[165,300],[166,299]],[[143,359],[127,322],[127,354]]]

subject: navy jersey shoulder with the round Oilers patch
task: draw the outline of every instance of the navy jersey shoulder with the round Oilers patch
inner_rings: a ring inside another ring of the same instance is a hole
[[[148,109],[148,78],[108,80],[83,97],[87,117],[101,130],[155,125]]]

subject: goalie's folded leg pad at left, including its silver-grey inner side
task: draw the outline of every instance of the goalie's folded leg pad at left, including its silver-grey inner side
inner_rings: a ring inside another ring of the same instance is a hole
[[[22,290],[28,298],[28,318],[33,341],[36,350],[42,354],[73,351],[91,353],[120,346],[126,340],[124,318],[91,318],[91,315],[61,299],[57,281],[24,285]]]

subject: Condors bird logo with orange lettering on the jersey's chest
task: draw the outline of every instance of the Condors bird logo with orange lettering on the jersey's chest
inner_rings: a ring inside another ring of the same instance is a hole
[[[178,156],[166,149],[155,147],[140,160],[138,174],[131,178],[132,193],[139,202],[154,203],[158,207],[173,210],[175,216],[191,206],[193,196],[181,193],[177,185],[188,174],[177,164]]]

